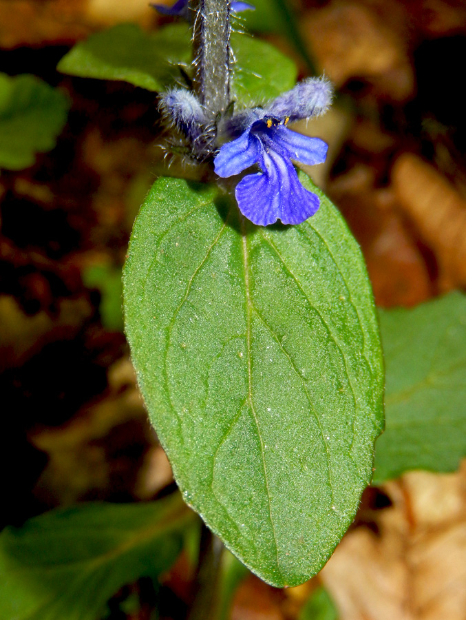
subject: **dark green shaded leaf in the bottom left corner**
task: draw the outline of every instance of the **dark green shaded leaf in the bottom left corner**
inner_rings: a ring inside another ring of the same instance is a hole
[[[167,570],[193,518],[178,494],[53,510],[0,535],[0,617],[96,620],[126,583]]]

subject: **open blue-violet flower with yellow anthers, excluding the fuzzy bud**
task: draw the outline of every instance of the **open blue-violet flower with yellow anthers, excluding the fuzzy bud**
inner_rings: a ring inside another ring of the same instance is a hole
[[[287,118],[265,115],[239,138],[224,144],[215,156],[218,176],[233,176],[259,165],[262,172],[244,176],[235,196],[242,214],[260,226],[277,220],[300,224],[319,209],[319,197],[301,185],[291,160],[307,165],[323,163],[327,145],[320,138],[289,130],[287,122]]]

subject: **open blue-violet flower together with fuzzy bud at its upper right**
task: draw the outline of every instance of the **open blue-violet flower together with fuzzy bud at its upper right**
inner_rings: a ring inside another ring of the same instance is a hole
[[[259,107],[233,116],[223,135],[235,138],[215,156],[218,176],[234,176],[258,165],[261,172],[247,174],[235,196],[248,220],[268,226],[277,220],[300,224],[319,209],[319,197],[299,182],[292,161],[324,163],[327,145],[320,138],[297,134],[288,121],[324,114],[332,101],[332,86],[325,78],[310,78],[278,96],[264,110]]]

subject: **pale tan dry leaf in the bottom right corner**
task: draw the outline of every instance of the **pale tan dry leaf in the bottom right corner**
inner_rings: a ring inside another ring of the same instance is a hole
[[[341,620],[465,620],[466,467],[385,485],[379,535],[349,533],[321,571]]]

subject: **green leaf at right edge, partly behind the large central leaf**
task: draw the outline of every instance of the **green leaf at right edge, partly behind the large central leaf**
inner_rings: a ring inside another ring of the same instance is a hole
[[[379,311],[387,429],[374,482],[411,469],[455,471],[466,456],[466,296]]]

